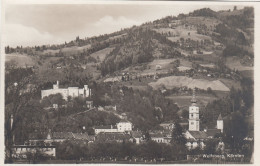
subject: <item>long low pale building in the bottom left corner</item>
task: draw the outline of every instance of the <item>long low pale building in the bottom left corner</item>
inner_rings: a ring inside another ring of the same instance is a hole
[[[56,157],[55,146],[38,146],[38,145],[14,145],[12,147],[12,157],[16,159],[26,159],[28,154],[41,153],[46,157]]]

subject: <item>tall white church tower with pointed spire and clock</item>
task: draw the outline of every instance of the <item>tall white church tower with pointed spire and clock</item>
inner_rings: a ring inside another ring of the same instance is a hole
[[[193,89],[191,106],[189,107],[189,131],[200,131],[199,107],[197,106],[195,89]]]

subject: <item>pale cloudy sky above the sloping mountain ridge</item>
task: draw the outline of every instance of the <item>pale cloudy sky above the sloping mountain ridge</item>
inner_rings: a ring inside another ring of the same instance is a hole
[[[5,44],[35,46],[112,33],[165,16],[209,7],[234,6],[149,4],[9,4],[5,8]],[[242,7],[241,7],[242,8]]]

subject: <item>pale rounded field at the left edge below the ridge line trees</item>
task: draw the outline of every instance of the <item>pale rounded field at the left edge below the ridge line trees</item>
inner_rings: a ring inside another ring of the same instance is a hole
[[[6,62],[14,61],[18,67],[35,65],[35,60],[33,59],[33,57],[25,54],[18,54],[18,53],[6,54],[5,61]]]

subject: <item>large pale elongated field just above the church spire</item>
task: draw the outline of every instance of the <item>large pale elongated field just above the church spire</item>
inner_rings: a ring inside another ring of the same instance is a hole
[[[158,89],[161,86],[165,86],[167,89],[172,89],[174,87],[187,86],[188,88],[199,88],[207,90],[211,88],[212,90],[218,91],[229,91],[229,88],[223,84],[220,80],[209,81],[206,79],[192,79],[185,76],[170,76],[160,78],[156,82],[149,83],[154,89]]]

